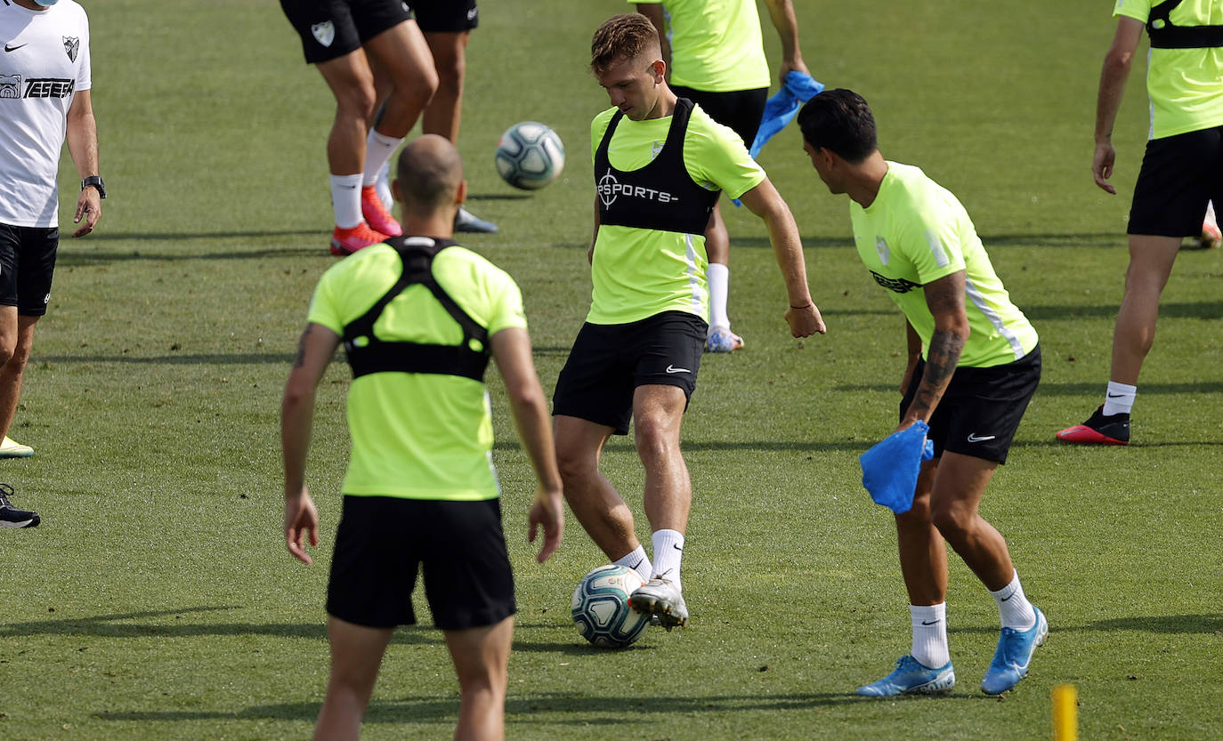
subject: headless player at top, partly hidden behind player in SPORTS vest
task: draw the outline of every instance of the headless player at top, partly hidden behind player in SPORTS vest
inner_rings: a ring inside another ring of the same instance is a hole
[[[764,114],[768,98],[768,60],[761,39],[755,0],[730,0],[711,12],[707,0],[631,0],[658,29],[667,62],[667,82],[680,98],[701,106],[714,121],[729,126],[747,147]],[[790,0],[764,0],[781,39],[785,84],[791,71],[807,73],[799,49],[799,23]],[[709,256],[709,336],[707,352],[733,352],[744,339],[730,331],[726,295],[730,286],[730,236],[715,202],[704,230]]]

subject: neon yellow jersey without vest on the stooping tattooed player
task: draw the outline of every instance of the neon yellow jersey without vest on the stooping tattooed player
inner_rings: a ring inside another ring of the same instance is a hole
[[[859,257],[917,330],[922,357],[934,334],[922,286],[959,270],[971,329],[959,364],[1000,366],[1036,347],[1036,329],[1010,302],[969,213],[918,168],[889,161],[874,202],[863,209],[850,201],[850,219]]]

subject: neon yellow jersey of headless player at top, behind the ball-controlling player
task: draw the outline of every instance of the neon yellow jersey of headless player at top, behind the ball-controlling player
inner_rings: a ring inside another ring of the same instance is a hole
[[[645,0],[641,4],[663,6],[667,40],[671,44],[673,84],[709,93],[769,87],[756,0]]]

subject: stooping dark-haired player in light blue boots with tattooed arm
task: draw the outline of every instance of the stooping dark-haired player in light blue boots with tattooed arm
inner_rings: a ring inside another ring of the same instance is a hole
[[[942,693],[955,685],[944,539],[998,604],[1002,636],[981,688],[1005,692],[1027,674],[1048,622],[977,506],[1040,382],[1036,330],[1010,302],[955,196],[920,169],[883,159],[866,100],[824,90],[799,112],[799,126],[819,179],[850,198],[859,257],[907,320],[896,429],[927,422],[934,443],[912,509],[895,517],[912,651],[857,693]]]

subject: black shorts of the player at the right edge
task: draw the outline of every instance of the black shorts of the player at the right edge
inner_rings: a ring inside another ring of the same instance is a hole
[[[1223,126],[1151,139],[1125,231],[1196,237],[1210,199],[1223,205]]]

